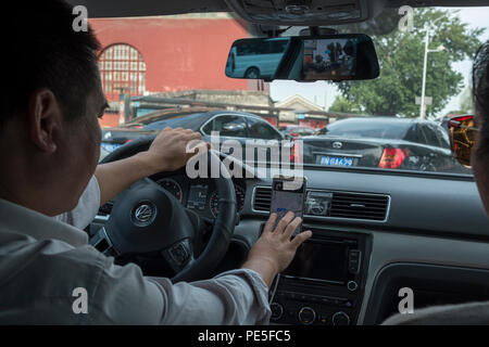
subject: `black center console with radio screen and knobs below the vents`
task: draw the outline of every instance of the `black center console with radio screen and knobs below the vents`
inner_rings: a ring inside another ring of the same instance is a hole
[[[290,266],[276,279],[271,323],[355,324],[372,249],[363,233],[312,230]]]

